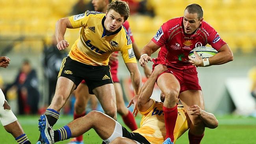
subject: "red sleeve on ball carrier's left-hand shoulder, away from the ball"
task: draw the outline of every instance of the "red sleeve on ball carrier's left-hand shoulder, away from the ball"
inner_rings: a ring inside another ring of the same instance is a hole
[[[156,35],[151,39],[156,45],[163,46],[168,41],[168,28],[167,23],[164,23],[159,30],[156,32]]]

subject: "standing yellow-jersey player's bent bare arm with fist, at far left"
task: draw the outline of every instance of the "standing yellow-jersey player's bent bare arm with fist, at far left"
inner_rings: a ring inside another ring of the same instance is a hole
[[[58,50],[65,50],[67,47],[69,47],[69,42],[64,39],[67,28],[73,28],[69,18],[61,18],[56,22],[55,36],[58,43]]]

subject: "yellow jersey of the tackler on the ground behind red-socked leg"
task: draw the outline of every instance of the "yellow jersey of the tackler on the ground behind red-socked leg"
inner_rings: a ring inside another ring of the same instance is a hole
[[[154,100],[153,105],[145,112],[141,118],[140,128],[133,131],[145,137],[150,144],[162,144],[165,140],[165,119],[163,116],[163,103]],[[186,111],[183,105],[178,105],[178,117],[174,128],[174,142],[189,128]]]

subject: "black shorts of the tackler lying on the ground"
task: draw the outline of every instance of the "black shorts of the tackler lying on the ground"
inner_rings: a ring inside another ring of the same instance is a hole
[[[125,127],[122,127],[122,137],[136,140],[137,142],[139,142],[141,144],[150,144],[150,142],[148,142],[148,140],[145,137],[143,137],[141,134],[131,133]]]

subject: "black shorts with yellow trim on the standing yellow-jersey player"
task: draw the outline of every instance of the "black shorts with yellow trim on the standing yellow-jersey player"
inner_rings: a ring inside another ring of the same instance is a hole
[[[70,57],[63,59],[58,78],[60,76],[72,80],[76,87],[84,79],[88,86],[89,94],[93,94],[93,89],[96,87],[113,83],[109,66],[86,65]]]

